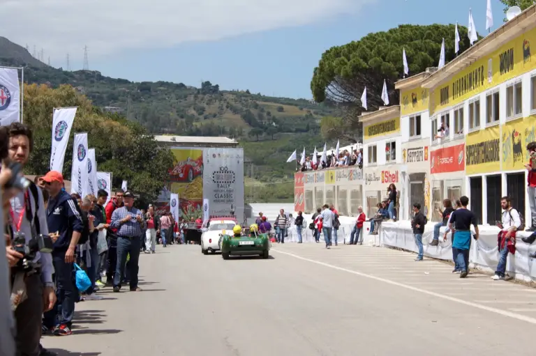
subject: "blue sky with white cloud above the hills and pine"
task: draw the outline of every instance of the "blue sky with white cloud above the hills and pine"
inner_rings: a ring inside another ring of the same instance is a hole
[[[0,0],[2,36],[45,63],[135,82],[163,80],[312,98],[333,46],[399,24],[468,24],[485,34],[487,0]],[[494,29],[504,6],[491,0]],[[449,39],[445,39],[449,40]],[[452,39],[454,40],[454,39]],[[408,61],[411,61],[408,58]]]

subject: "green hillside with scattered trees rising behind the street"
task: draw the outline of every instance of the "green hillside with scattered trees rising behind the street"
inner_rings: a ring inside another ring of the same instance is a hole
[[[0,65],[24,65],[28,83],[70,84],[94,105],[117,111],[154,134],[233,137],[243,143],[248,161],[253,162],[253,169],[246,169],[261,183],[288,181],[295,168],[285,164],[288,155],[304,145],[311,150],[320,146],[320,120],[336,114],[308,100],[274,98],[247,89],[223,91],[211,82],[195,88],[182,83],[130,82],[94,70],[69,72],[38,61],[26,48],[1,37]],[[278,199],[292,199],[292,189],[272,185],[271,192],[285,190],[277,194]]]

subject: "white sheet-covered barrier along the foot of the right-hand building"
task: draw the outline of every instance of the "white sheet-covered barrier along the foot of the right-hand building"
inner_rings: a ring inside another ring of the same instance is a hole
[[[433,226],[429,222],[424,227],[422,244],[424,256],[452,261],[452,236],[447,235],[447,241],[443,242],[446,227],[440,229],[439,245],[430,245],[433,240]],[[477,268],[486,272],[495,271],[498,259],[497,234],[500,229],[496,226],[478,226],[479,239],[471,239],[469,262],[471,268]],[[471,234],[475,231],[472,229]],[[530,254],[536,251],[536,244],[528,245],[521,238],[530,236],[531,233],[518,231],[516,234],[516,253],[508,254],[506,271],[515,279],[523,281],[536,281],[536,260],[530,258]],[[417,245],[413,237],[413,231],[409,221],[383,222],[379,235],[380,245],[385,247],[398,247],[408,251],[417,252]]]

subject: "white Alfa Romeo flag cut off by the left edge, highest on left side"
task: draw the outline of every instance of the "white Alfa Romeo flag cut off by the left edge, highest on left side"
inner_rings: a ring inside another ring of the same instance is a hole
[[[19,71],[0,67],[0,126],[15,121],[20,122]]]

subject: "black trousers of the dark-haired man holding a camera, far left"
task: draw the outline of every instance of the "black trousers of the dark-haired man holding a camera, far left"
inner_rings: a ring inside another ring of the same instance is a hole
[[[40,273],[27,276],[25,282],[28,298],[15,309],[17,356],[39,356],[41,316],[43,315],[43,283]]]

